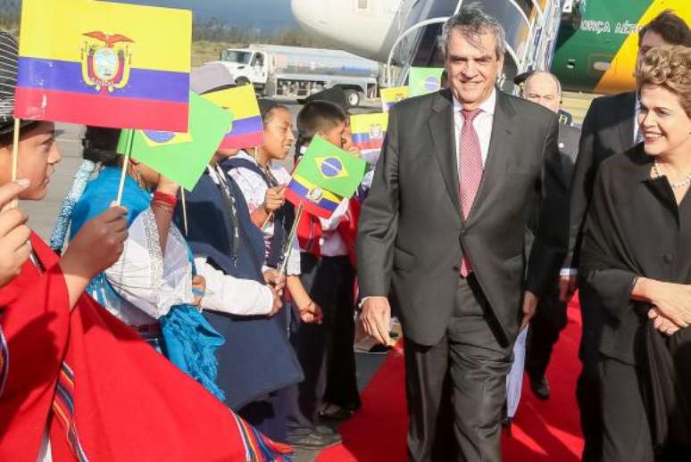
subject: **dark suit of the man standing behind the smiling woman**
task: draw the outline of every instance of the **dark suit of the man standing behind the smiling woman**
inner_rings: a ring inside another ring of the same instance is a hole
[[[600,163],[634,144],[636,94],[634,92],[595,98],[581,128],[579,157],[571,180],[569,253],[564,267],[578,268],[583,222],[593,194]],[[580,286],[580,284],[579,284]],[[602,409],[597,371],[598,344],[602,316],[597,301],[587,287],[579,290],[583,336],[579,357],[583,370],[576,388],[580,423],[586,445],[583,460],[598,460],[602,447]]]

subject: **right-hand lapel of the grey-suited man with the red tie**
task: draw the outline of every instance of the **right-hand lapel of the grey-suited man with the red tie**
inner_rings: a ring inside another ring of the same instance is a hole
[[[510,148],[512,146],[512,119],[515,111],[508,102],[508,98],[498,89],[495,91],[496,106],[492,120],[492,137],[489,141],[485,171],[468,216],[469,225],[479,215],[479,210],[487,202],[492,188],[500,184],[501,175],[506,170],[506,153],[512,151]]]

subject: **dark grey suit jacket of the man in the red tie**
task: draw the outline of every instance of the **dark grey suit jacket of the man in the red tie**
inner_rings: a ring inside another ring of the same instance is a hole
[[[453,314],[463,249],[504,340],[513,342],[523,289],[540,294],[554,285],[566,252],[568,207],[559,179],[557,118],[497,90],[485,172],[464,220],[453,107],[444,90],[398,103],[389,114],[359,222],[361,293],[389,295],[405,335],[420,344],[437,343]],[[539,198],[553,225],[540,220],[526,281],[525,229]]]

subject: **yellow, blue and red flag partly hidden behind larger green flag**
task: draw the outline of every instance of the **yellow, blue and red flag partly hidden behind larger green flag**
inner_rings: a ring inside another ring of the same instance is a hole
[[[202,97],[221,108],[229,111],[233,116],[233,124],[221,148],[242,149],[261,146],[264,143],[262,116],[259,112],[254,87],[228,88],[217,92],[207,93]]]

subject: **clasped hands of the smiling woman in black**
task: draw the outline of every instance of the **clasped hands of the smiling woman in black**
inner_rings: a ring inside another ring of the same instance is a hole
[[[641,277],[633,293],[650,301],[664,318],[678,327],[691,325],[691,285],[663,283]]]

